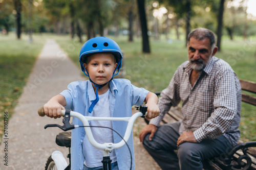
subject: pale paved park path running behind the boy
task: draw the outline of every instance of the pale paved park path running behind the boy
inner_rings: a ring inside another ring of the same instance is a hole
[[[62,119],[39,117],[37,110],[76,80],[86,79],[58,44],[54,40],[48,40],[34,65],[15,113],[9,120],[8,166],[3,161],[6,153],[3,150],[3,139],[0,146],[0,169],[44,169],[46,160],[53,151],[59,150],[65,156],[68,154],[68,149],[58,147],[55,143],[55,136],[61,130],[44,129],[46,124],[62,125]],[[136,169],[159,169],[138,138],[135,138],[135,145],[140,148],[135,150]]]

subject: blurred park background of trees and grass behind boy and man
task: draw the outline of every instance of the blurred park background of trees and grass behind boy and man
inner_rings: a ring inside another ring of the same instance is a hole
[[[11,117],[49,38],[78,67],[84,42],[114,39],[125,56],[125,78],[155,92],[187,60],[187,33],[204,27],[217,35],[216,56],[240,79],[256,82],[255,7],[254,0],[0,0],[0,134],[4,113]],[[240,130],[242,141],[256,140],[254,106],[242,104]]]

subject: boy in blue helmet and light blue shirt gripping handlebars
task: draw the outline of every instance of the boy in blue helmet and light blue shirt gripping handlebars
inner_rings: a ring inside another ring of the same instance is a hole
[[[70,109],[86,116],[128,117],[132,115],[131,107],[143,102],[147,102],[148,118],[159,115],[158,98],[154,93],[133,86],[129,80],[113,79],[122,61],[121,50],[115,41],[106,37],[88,40],[81,48],[79,61],[89,80],[72,82],[68,90],[54,96],[44,106],[47,116],[57,118],[61,116],[60,110]],[[82,126],[75,117],[73,124]],[[90,125],[110,127],[123,136],[127,123],[91,121]],[[95,140],[101,143],[121,140],[106,128],[92,128],[92,133]],[[127,143],[132,151],[132,169],[135,169],[133,137]],[[102,168],[103,152],[90,144],[83,128],[72,130],[71,155],[71,169]],[[126,146],[114,150],[110,158],[112,169],[130,169],[131,158]]]

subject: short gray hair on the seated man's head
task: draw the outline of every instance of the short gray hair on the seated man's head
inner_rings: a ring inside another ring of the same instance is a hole
[[[209,38],[211,47],[214,47],[215,43],[216,43],[215,34],[212,31],[210,31],[208,29],[205,29],[205,28],[197,28],[197,29],[191,31],[188,34],[188,38],[187,38],[188,43],[189,43],[189,40],[190,40],[191,37],[194,37],[197,40],[203,40],[205,38]]]

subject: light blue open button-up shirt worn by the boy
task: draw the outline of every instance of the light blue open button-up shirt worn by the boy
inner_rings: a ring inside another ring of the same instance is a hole
[[[142,105],[148,91],[144,88],[138,88],[131,84],[126,79],[113,79],[110,82],[110,112],[112,117],[129,117],[132,116],[133,105]],[[85,116],[93,116],[89,113],[89,107],[92,101],[95,100],[95,92],[90,81],[76,81],[68,86],[68,90],[62,91],[62,94],[67,102],[66,109],[73,110]],[[124,136],[127,122],[113,121],[113,129],[116,130],[122,137]],[[83,126],[78,118],[73,117],[73,125]],[[84,128],[72,130],[71,137],[71,169],[82,169],[84,156],[82,154],[82,142],[86,135]],[[107,136],[106,136],[107,137]],[[121,137],[113,132],[114,143],[118,143]],[[135,169],[133,135],[127,141],[132,152],[132,169]],[[103,151],[102,151],[103,152]],[[126,145],[116,149],[117,163],[119,169],[130,169],[131,156]],[[93,154],[93,153],[92,153]]]

